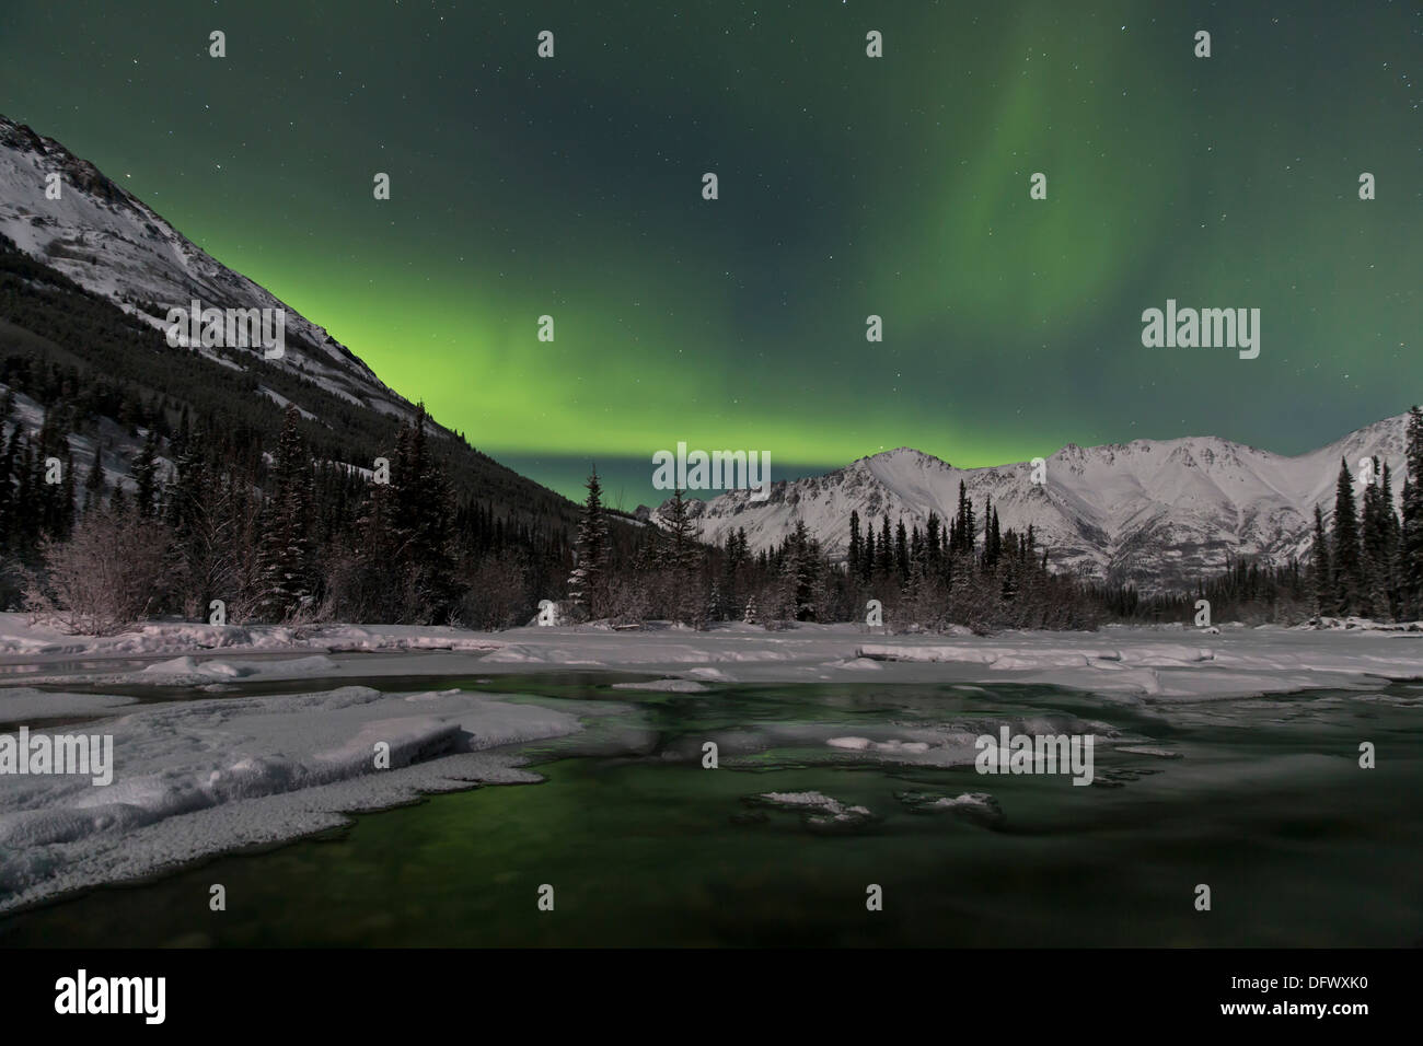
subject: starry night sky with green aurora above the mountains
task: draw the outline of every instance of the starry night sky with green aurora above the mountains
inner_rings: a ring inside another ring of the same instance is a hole
[[[6,3],[0,112],[626,508],[679,440],[1299,453],[1423,400],[1417,0]],[[1168,297],[1258,307],[1259,357],[1144,347]]]

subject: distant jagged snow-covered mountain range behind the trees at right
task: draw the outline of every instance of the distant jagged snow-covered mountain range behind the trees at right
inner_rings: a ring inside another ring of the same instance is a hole
[[[1003,529],[1033,525],[1054,569],[1155,591],[1210,576],[1229,556],[1284,564],[1308,554],[1315,505],[1326,521],[1333,515],[1340,458],[1355,474],[1360,458],[1386,463],[1397,501],[1406,423],[1406,414],[1377,421],[1299,457],[1214,437],[1069,444],[1046,460],[1040,485],[1026,463],[953,468],[901,447],[827,475],[777,481],[763,502],[739,490],[690,508],[704,541],[724,542],[746,528],[753,549],[783,541],[804,519],[834,558],[848,545],[851,511],[877,534],[885,514],[891,528],[901,518],[924,527],[929,512],[955,515],[963,481],[980,527],[988,497]],[[665,509],[666,502],[650,515]]]

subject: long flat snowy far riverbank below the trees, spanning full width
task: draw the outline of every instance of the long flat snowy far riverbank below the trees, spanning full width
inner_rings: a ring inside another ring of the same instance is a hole
[[[1187,640],[1190,638],[1190,640]],[[1183,642],[1187,640],[1187,642]],[[277,665],[225,657],[201,649],[306,652]],[[149,625],[124,636],[55,636],[0,615],[6,660],[44,665],[75,657],[181,655],[168,665],[87,679],[102,685],[165,682],[221,686],[243,679],[330,679],[390,675],[626,669],[700,682],[837,682],[874,673],[896,683],[1044,683],[1117,702],[1197,702],[1311,687],[1373,687],[1379,679],[1423,677],[1423,632],[1380,628],[1247,629],[1221,635],[1184,628],[1113,626],[1101,632],[1003,632],[993,636],[916,635],[867,642],[857,625],[800,625],[785,630],[736,625],[692,629],[519,628],[497,633],[448,628],[330,625],[313,629]],[[343,657],[360,652],[363,657]],[[411,652],[423,652],[418,667]],[[437,653],[440,652],[440,653]],[[185,660],[191,657],[192,663]],[[65,666],[28,683],[64,685]]]

